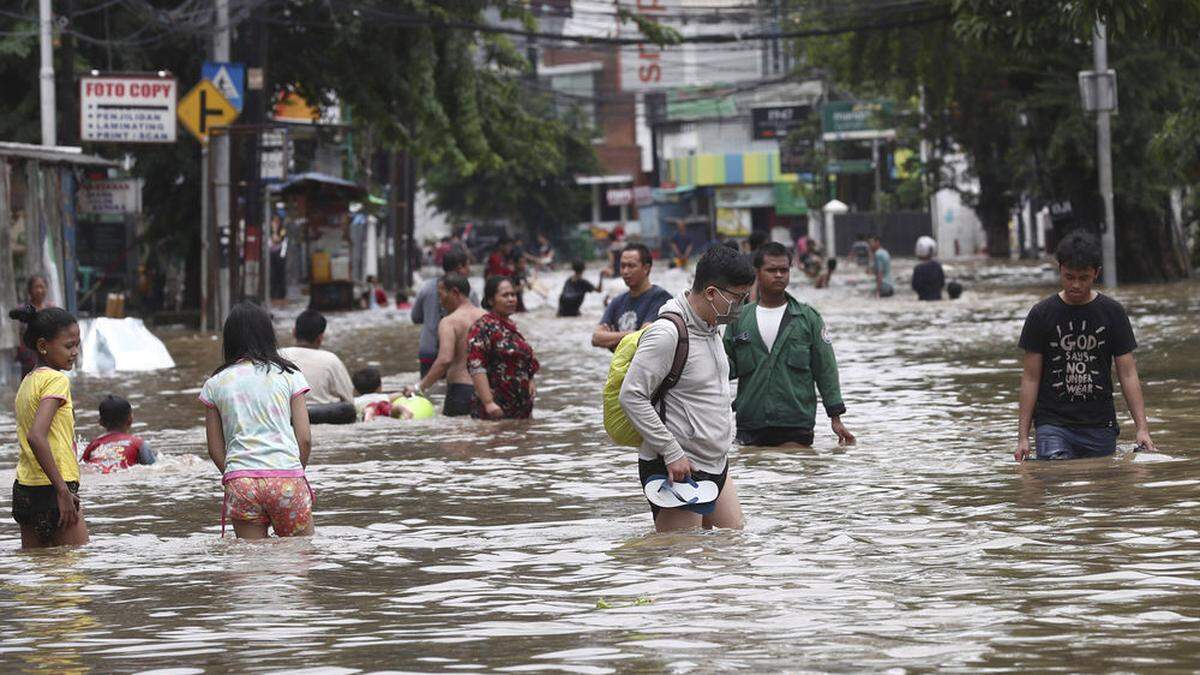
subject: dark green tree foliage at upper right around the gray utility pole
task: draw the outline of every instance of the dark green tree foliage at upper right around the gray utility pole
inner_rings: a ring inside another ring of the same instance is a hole
[[[842,5],[840,20],[854,7]],[[1194,1],[931,0],[907,11],[946,17],[920,26],[808,41],[802,56],[863,95],[924,96],[925,138],[942,155],[967,155],[973,204],[992,255],[1008,255],[1008,221],[1020,196],[1070,199],[1085,225],[1103,222],[1096,180],[1094,121],[1079,103],[1076,73],[1092,66],[1097,16],[1110,25],[1110,67],[1121,110],[1112,118],[1118,271],[1126,280],[1186,274],[1169,193],[1195,180],[1188,163],[1148,149],[1171,129],[1189,129],[1188,92],[1200,76],[1192,37]],[[797,1],[799,16],[827,16]],[[1194,110],[1195,108],[1190,108]],[[936,161],[929,187],[953,186]]]

